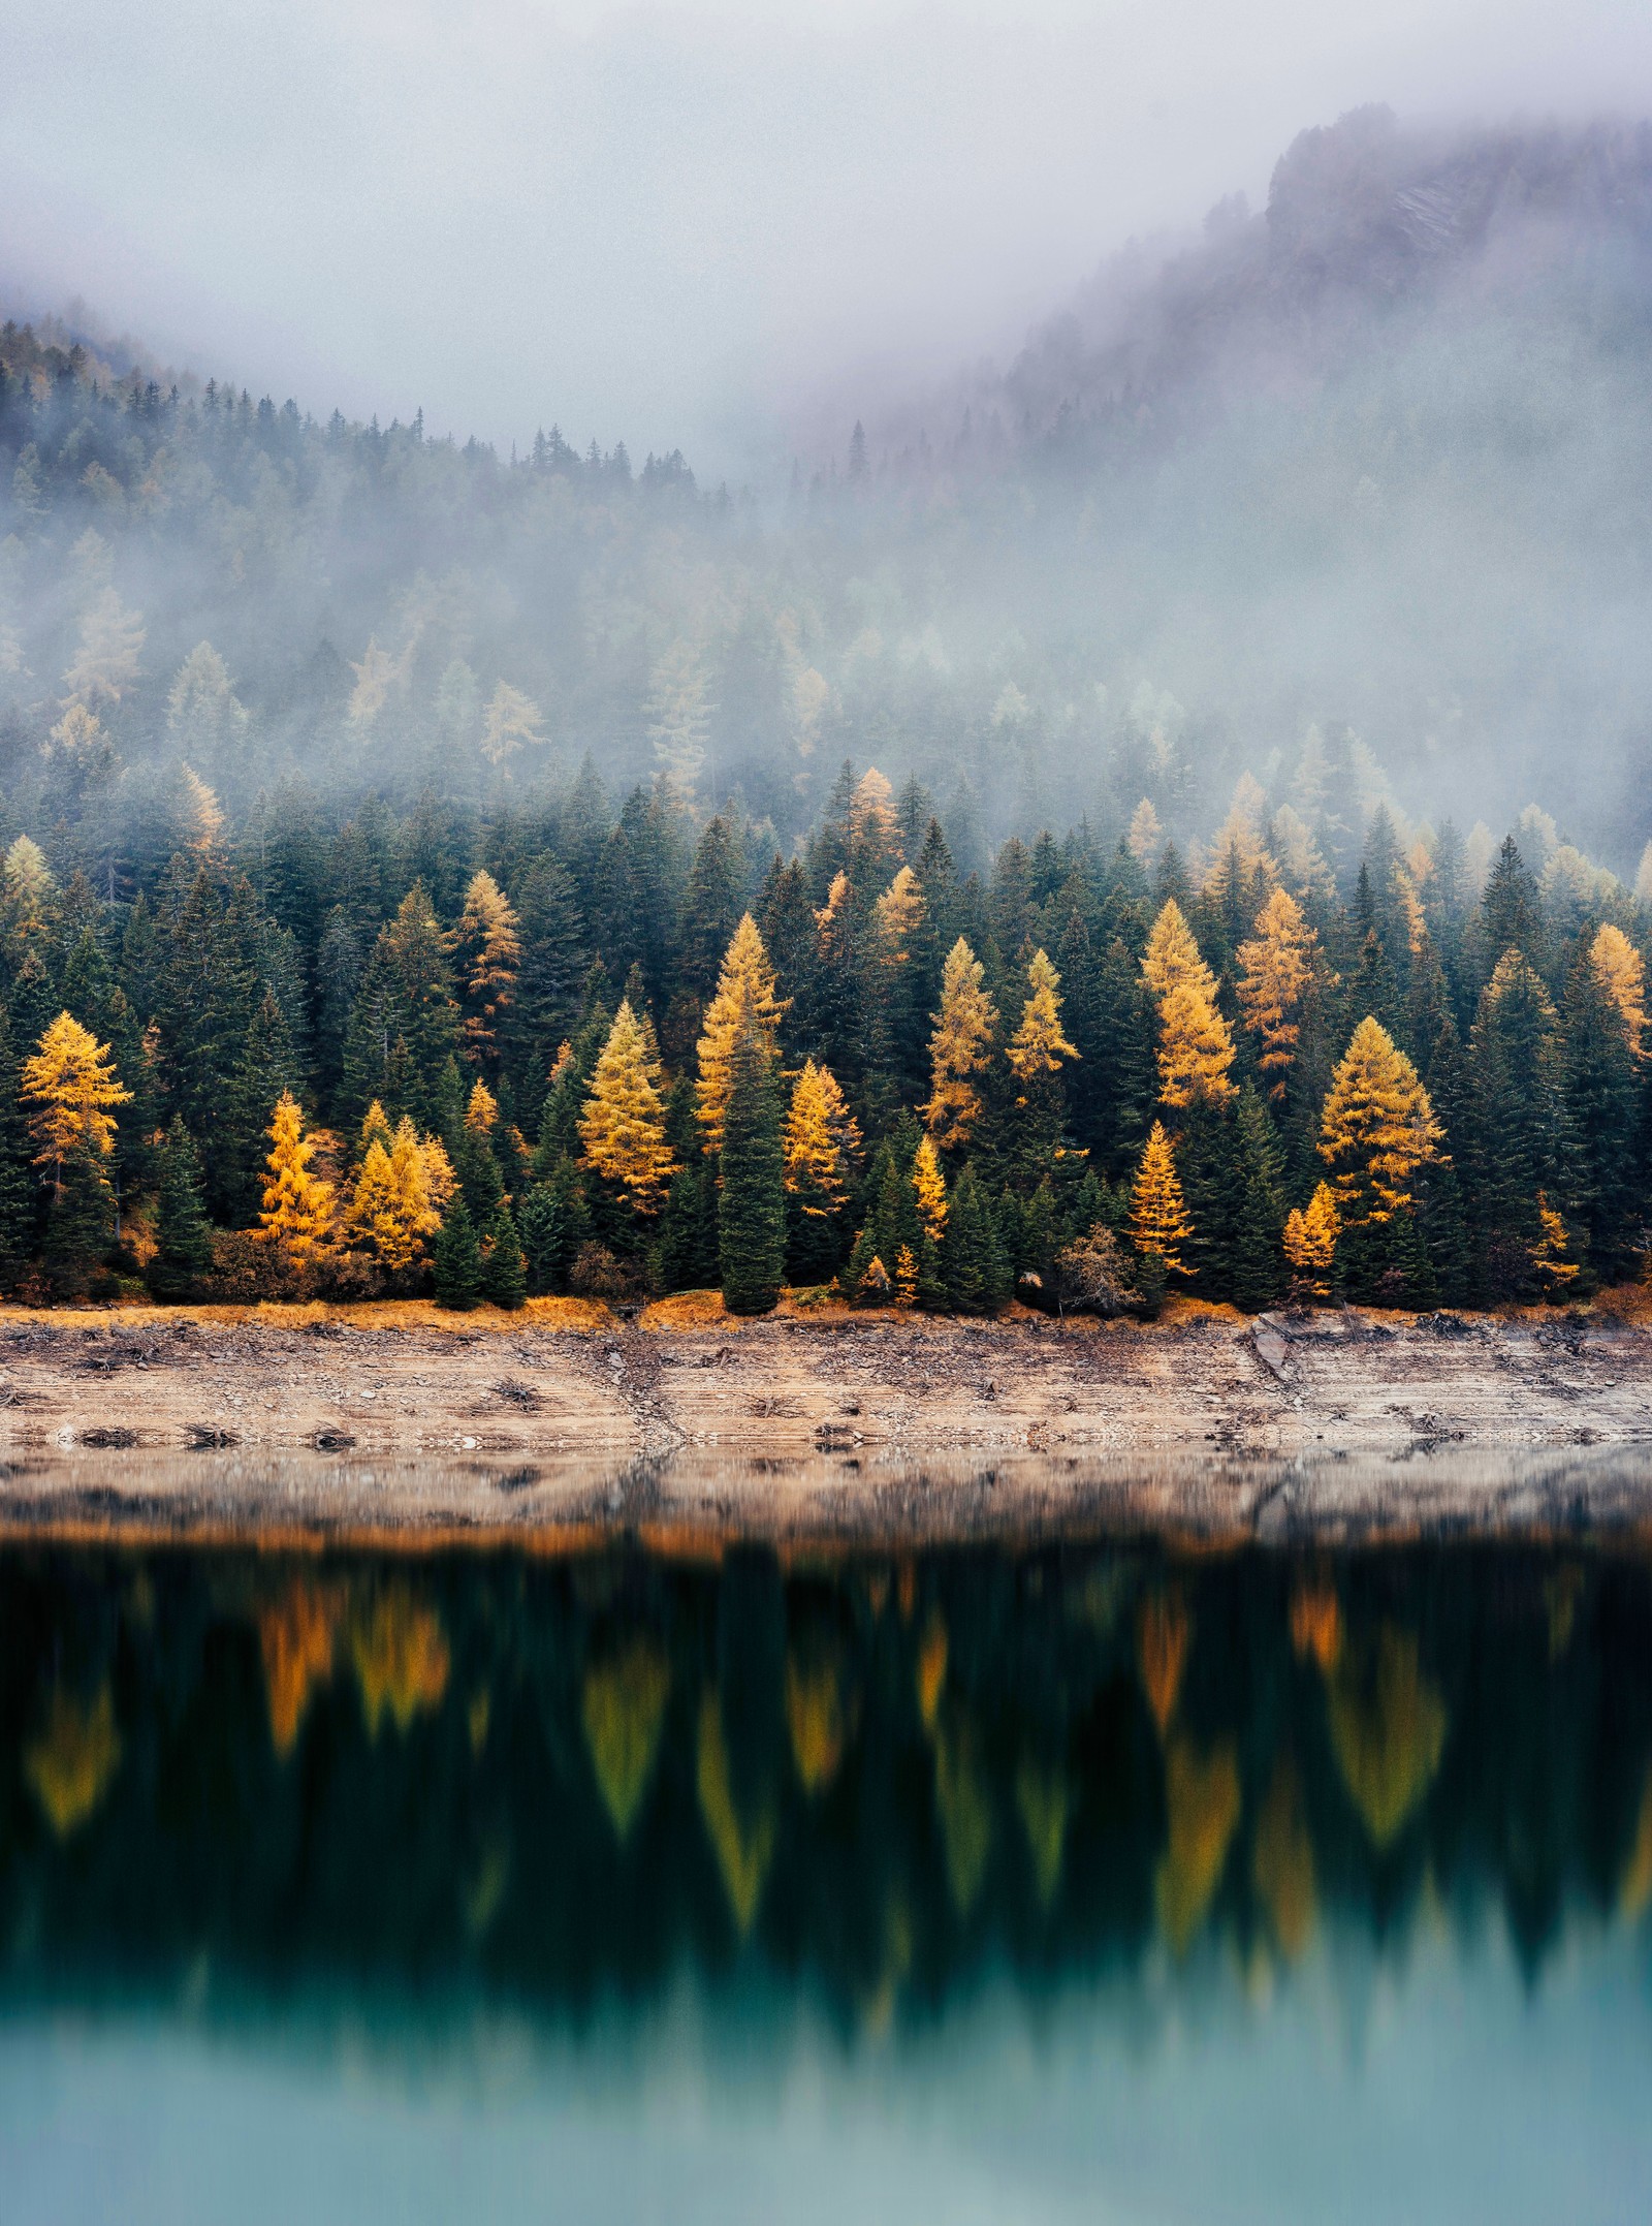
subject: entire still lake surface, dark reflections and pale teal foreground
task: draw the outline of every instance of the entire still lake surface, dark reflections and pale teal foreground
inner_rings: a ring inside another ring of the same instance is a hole
[[[0,1547],[0,2215],[1645,2219],[1652,1545]]]

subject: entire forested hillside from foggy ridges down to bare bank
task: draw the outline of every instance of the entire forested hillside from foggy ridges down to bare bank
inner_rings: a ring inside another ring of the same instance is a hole
[[[1345,118],[777,503],[7,325],[11,1287],[1636,1273],[1648,180]]]

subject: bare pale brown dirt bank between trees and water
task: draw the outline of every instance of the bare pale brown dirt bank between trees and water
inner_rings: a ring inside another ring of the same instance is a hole
[[[0,1525],[1267,1534],[1652,1514],[1652,1331],[1570,1316],[953,1322],[708,1298],[0,1309]],[[1645,1471],[1645,1480],[1643,1480]]]

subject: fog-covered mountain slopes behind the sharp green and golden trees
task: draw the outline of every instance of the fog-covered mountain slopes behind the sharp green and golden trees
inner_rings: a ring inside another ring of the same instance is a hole
[[[1149,795],[1193,837],[1351,726],[1407,810],[1536,799],[1630,870],[1650,327],[1645,127],[1376,111],[1305,134],[1262,214],[1111,263],[1002,376],[866,396],[871,441],[786,503],[163,392],[4,327],[9,792],[91,748],[229,801],[292,766],[481,801],[590,750],[786,835],[853,755],[966,777],[986,833]]]

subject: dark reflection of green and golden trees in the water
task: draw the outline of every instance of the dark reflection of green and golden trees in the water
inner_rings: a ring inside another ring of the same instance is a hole
[[[761,1968],[855,2039],[989,1968],[1249,1983],[1329,1923],[1501,1910],[1536,1970],[1652,1905],[1650,1576],[1632,1540],[13,1545],[0,1986],[205,1959],[554,2019]]]

